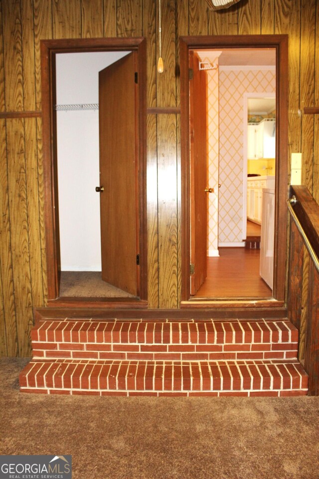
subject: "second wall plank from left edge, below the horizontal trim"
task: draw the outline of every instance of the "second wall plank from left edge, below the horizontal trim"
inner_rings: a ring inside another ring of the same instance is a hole
[[[30,354],[33,324],[24,159],[24,121],[6,121],[8,197],[18,355]]]

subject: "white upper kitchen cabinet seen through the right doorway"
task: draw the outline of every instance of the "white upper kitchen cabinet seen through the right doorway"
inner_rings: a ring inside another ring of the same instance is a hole
[[[276,120],[265,118],[260,123],[248,124],[248,160],[276,157]]]

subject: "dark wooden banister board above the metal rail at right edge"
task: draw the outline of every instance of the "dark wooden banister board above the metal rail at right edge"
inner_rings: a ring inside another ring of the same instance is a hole
[[[319,205],[306,186],[291,186],[290,198],[296,197],[294,212],[319,257]]]

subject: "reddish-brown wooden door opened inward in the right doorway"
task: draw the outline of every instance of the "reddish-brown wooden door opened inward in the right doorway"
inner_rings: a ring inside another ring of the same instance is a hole
[[[190,52],[190,294],[195,294],[207,275],[207,75],[199,58]]]

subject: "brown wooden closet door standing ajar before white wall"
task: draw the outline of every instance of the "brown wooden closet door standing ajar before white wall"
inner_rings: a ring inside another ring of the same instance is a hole
[[[102,279],[139,295],[135,53],[99,72]]]

